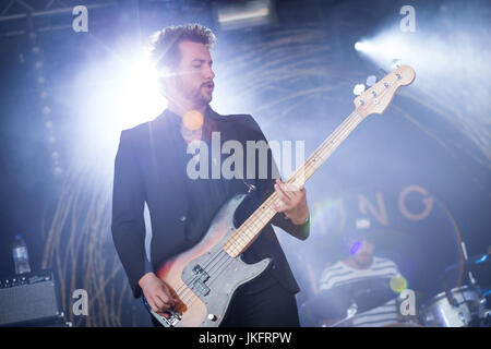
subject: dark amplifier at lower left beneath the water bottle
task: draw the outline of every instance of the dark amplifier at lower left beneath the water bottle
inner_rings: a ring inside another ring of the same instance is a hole
[[[0,279],[0,326],[36,326],[61,317],[51,270]]]

